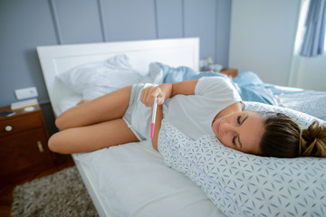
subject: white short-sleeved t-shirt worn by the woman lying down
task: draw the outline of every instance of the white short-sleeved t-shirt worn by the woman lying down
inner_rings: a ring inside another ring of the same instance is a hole
[[[241,101],[231,81],[223,77],[198,80],[195,95],[177,95],[163,105],[163,117],[187,137],[213,135],[212,122],[226,107]]]

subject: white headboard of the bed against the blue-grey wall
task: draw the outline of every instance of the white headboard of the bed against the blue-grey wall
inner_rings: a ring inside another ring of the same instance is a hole
[[[188,66],[198,70],[199,39],[180,38],[133,42],[100,42],[70,45],[39,46],[37,53],[52,103],[54,115],[59,114],[59,101],[72,94],[59,80],[57,74],[75,66],[104,61],[114,55],[125,53],[133,68],[146,74],[149,63],[159,61],[170,66]]]

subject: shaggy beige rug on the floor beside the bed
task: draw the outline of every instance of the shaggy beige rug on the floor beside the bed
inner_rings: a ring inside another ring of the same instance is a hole
[[[12,216],[99,216],[75,166],[18,185]]]

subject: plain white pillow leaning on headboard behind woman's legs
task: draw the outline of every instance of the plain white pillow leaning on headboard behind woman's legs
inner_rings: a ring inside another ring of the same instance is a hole
[[[56,76],[82,99],[95,99],[120,88],[139,83],[141,75],[134,71],[125,54],[107,61],[92,62],[74,67]]]

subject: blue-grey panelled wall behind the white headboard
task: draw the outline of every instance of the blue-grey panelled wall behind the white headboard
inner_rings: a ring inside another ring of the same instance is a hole
[[[36,87],[50,134],[53,111],[36,46],[200,38],[200,59],[228,65],[229,0],[0,0],[0,106]]]

